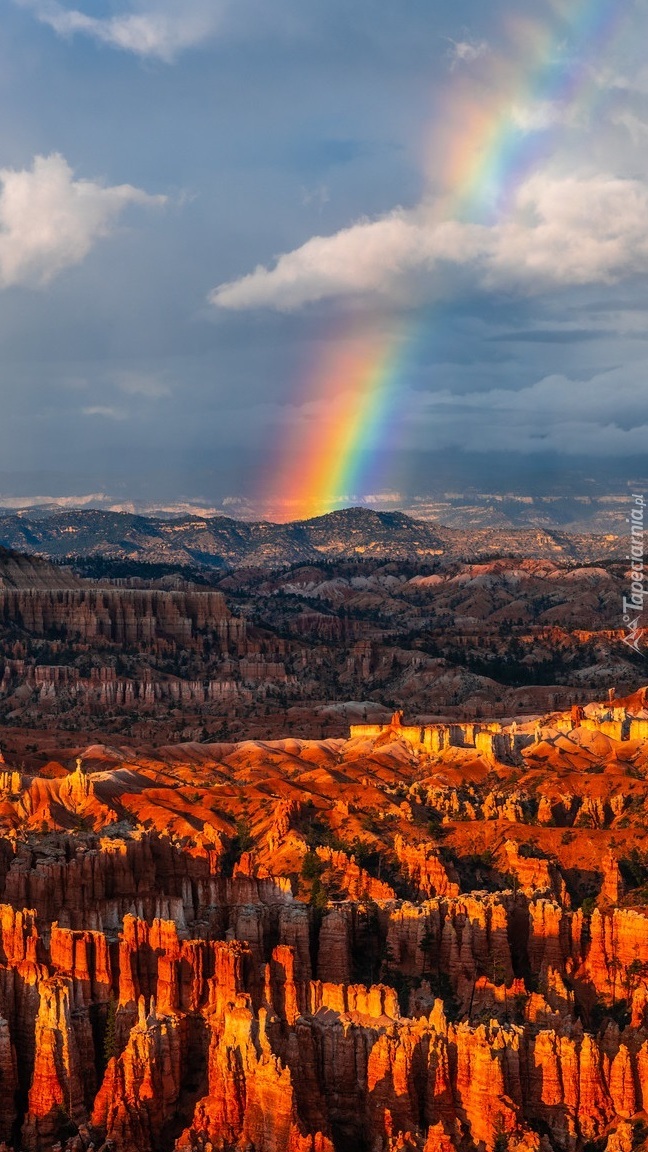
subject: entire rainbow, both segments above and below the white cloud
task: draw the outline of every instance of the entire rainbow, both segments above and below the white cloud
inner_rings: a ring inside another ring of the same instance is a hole
[[[567,113],[592,115],[592,69],[618,38],[627,7],[619,0],[548,0],[544,22],[511,16],[504,53],[484,52],[469,69],[451,73],[424,149],[435,219],[481,221],[507,210],[521,181],[549,153],[556,126]],[[565,44],[575,46],[574,58],[566,56]],[[547,122],[541,115],[525,124],[525,107],[547,109]],[[300,381],[292,432],[268,478],[272,518],[318,516],[361,502],[384,483],[379,470],[398,422],[399,385],[423,325],[429,327],[428,317],[408,325],[392,318],[332,335]]]

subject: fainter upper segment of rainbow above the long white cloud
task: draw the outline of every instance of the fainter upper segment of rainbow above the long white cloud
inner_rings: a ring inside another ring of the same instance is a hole
[[[507,50],[485,54],[449,86],[427,146],[428,176],[440,185],[437,211],[446,219],[505,211],[550,151],[555,134],[548,129],[568,112],[592,115],[593,67],[617,40],[627,9],[615,0],[565,0],[552,8],[551,21],[511,15]],[[575,56],[567,43],[577,46]],[[529,107],[541,112],[535,124],[523,123]]]

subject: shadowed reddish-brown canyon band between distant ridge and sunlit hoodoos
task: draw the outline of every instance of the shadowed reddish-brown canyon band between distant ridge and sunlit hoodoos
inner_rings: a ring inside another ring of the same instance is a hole
[[[158,741],[341,736],[631,692],[626,564],[504,555],[213,571],[0,553],[0,719]]]

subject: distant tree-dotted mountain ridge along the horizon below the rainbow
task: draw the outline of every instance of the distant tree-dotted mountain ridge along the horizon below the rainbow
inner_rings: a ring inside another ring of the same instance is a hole
[[[228,569],[277,568],[352,558],[425,562],[435,556],[483,560],[493,555],[592,563],[623,559],[615,535],[557,529],[470,526],[466,531],[400,511],[347,508],[312,520],[274,524],[227,516],[138,516],[96,509],[0,516],[0,545],[52,560],[101,556]]]

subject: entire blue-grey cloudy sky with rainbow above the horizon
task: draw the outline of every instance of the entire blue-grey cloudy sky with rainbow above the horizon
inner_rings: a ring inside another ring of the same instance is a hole
[[[645,476],[647,0],[3,0],[0,499]]]

